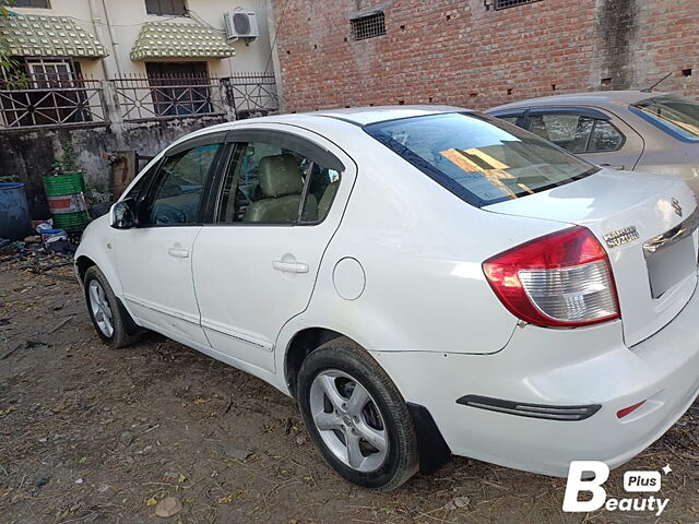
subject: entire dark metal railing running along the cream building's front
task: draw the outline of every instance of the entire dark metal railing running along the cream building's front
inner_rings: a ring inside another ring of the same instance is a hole
[[[108,126],[164,119],[241,119],[279,110],[272,74],[120,76],[96,81],[0,84],[0,131]]]

